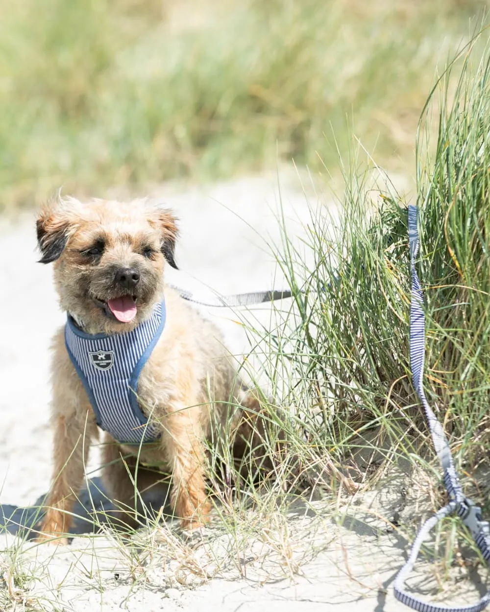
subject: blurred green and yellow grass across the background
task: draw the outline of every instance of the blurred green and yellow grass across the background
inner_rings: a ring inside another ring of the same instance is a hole
[[[0,207],[294,159],[352,133],[413,174],[434,79],[472,0],[0,0]]]

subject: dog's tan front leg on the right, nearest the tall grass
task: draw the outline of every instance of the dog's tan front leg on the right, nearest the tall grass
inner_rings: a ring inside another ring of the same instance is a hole
[[[200,408],[176,409],[165,418],[162,442],[172,469],[171,504],[181,526],[195,529],[208,521],[204,441]]]

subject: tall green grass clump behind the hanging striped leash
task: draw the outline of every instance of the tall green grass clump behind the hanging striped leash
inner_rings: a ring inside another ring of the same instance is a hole
[[[426,391],[467,485],[490,444],[490,45],[478,47],[487,37],[437,81],[416,141]],[[338,222],[312,216],[301,247],[312,266],[285,236],[295,307],[264,337],[263,367],[282,405],[295,407],[290,437],[310,463],[359,475],[367,451],[378,462],[423,461],[437,480],[410,375],[406,203],[369,164],[362,171],[361,155],[351,160]],[[488,485],[478,486],[486,506]]]

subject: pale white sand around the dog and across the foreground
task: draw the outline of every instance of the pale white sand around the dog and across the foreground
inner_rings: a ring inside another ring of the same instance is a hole
[[[296,188],[283,184],[281,199],[288,232],[300,239],[310,212],[305,195],[297,187],[297,183]],[[284,285],[263,241],[280,242],[276,219],[279,192],[274,176],[183,193],[169,186],[154,195],[175,209],[181,219],[176,259],[185,272],[169,275],[170,282],[203,295],[206,285],[222,294]],[[315,204],[317,196],[310,192],[308,199]],[[34,214],[16,222],[4,220],[0,226],[0,504],[32,504],[47,491],[50,480],[48,346],[53,331],[64,323],[64,315],[56,304],[50,267],[36,263],[34,234]],[[246,337],[233,313],[205,310],[224,329],[236,354],[247,350]],[[257,316],[267,324],[270,309],[258,308]],[[92,468],[97,467],[97,461],[94,453]],[[396,494],[390,499],[391,506],[393,499],[396,501]],[[29,544],[17,550],[15,537],[0,534],[0,549],[5,549],[0,553],[4,580],[3,587],[0,580],[0,595],[2,588],[10,588],[15,595],[18,585],[11,576],[32,567],[32,574],[38,578],[27,589],[32,607],[29,601],[23,607],[25,601],[22,603],[20,594],[15,609],[405,610],[394,600],[391,581],[405,559],[407,543],[388,533],[383,521],[372,522],[373,515],[380,512],[378,506],[369,512],[371,501],[364,499],[363,504],[362,516],[352,513],[354,506],[349,506],[347,514],[355,517],[349,528],[333,523],[326,514],[322,518],[321,507],[316,507],[313,517],[309,510],[293,517],[287,528],[292,548],[290,553],[279,555],[281,562],[276,560],[282,570],[289,564],[288,571],[277,573],[273,552],[269,561],[251,553],[249,572],[244,570],[240,575],[230,561],[228,570],[221,569],[209,580],[195,580],[191,572],[176,581],[172,564],[178,561],[173,558],[174,549],[167,550],[165,542],[159,544],[159,561],[149,564],[145,572],[141,570],[145,577],[137,580],[127,556],[110,539],[85,537],[58,550]],[[270,550],[273,548],[271,545]],[[261,559],[268,568],[262,573],[257,569]],[[249,561],[244,558],[240,563],[245,568]],[[288,572],[294,574],[293,578],[284,577]],[[247,573],[246,578],[243,573]],[[1,603],[0,609],[3,611]]]

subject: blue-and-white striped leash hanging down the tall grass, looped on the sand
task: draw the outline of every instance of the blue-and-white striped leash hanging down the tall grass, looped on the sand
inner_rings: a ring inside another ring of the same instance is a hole
[[[445,433],[428,404],[423,388],[423,371],[425,358],[425,318],[423,311],[423,294],[415,271],[415,258],[418,253],[418,228],[416,206],[409,206],[409,243],[410,243],[410,270],[412,272],[412,299],[410,303],[410,368],[412,370],[413,386],[423,405],[426,418],[431,430],[432,441],[439,457],[444,474],[444,483],[448,492],[449,503],[436,512],[423,524],[413,542],[408,561],[398,572],[394,580],[394,595],[396,599],[418,612],[480,612],[490,602],[490,593],[487,592],[480,601],[463,606],[445,606],[425,603],[404,590],[404,583],[412,571],[420,547],[429,532],[442,518],[456,513],[462,519],[473,536],[473,540],[481,551],[485,561],[490,561],[490,530],[487,521],[481,520],[480,508],[464,496],[458,474],[454,469],[453,458]]]

